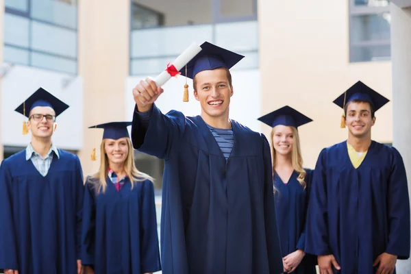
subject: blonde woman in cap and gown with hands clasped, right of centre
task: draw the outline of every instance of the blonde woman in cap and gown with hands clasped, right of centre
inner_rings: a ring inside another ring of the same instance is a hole
[[[311,122],[288,105],[258,120],[271,130],[275,216],[284,273],[315,272],[315,258],[304,253],[306,212],[311,171],[303,169],[297,127]]]

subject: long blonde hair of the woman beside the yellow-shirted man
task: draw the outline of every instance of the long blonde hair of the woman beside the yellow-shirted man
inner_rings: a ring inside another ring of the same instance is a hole
[[[298,135],[298,130],[295,127],[290,127],[292,131],[292,140],[293,145],[292,145],[292,151],[291,151],[291,162],[292,162],[292,168],[299,173],[297,180],[303,186],[304,189],[306,189],[306,182],[304,179],[306,179],[306,171],[303,169],[303,157],[301,156],[301,147],[300,147],[300,142],[299,142],[299,135]],[[273,136],[275,134],[275,127],[271,129],[271,157],[273,158],[273,175],[275,173],[275,149],[274,149],[274,144],[273,144]],[[274,189],[275,191],[275,189]]]

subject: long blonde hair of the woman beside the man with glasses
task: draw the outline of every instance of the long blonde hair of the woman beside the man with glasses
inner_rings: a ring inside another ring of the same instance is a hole
[[[107,157],[107,154],[105,153],[105,148],[104,148],[105,140],[106,139],[103,139],[100,145],[100,152],[101,152],[100,168],[99,168],[99,171],[97,171],[97,173],[93,175],[94,178],[92,180],[92,182],[95,184],[97,193],[99,192],[104,193],[105,189],[107,188],[107,182],[105,181],[105,179],[108,176],[109,164],[108,164],[108,157]],[[138,171],[138,169],[136,168],[136,164],[134,163],[134,153],[133,153],[134,149],[133,149],[132,141],[129,138],[126,138],[126,140],[127,140],[128,154],[127,154],[127,158],[125,159],[124,170],[125,170],[125,173],[127,174],[127,177],[129,177],[130,182],[132,182],[132,188],[135,182],[144,182],[147,179],[153,182],[154,179],[150,175],[142,173]]]

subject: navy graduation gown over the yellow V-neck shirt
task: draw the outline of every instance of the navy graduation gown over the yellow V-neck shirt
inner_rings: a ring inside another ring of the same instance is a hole
[[[375,273],[373,262],[384,252],[407,259],[410,201],[397,149],[371,142],[358,169],[351,164],[347,142],[323,149],[314,171],[306,233],[306,252],[333,254],[340,273]]]

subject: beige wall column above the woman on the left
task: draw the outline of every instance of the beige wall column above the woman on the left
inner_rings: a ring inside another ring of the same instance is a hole
[[[103,131],[91,125],[123,121],[125,79],[129,67],[129,0],[79,1],[79,75],[84,79],[84,175],[97,171],[90,153]]]

